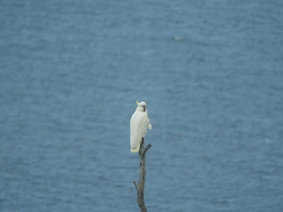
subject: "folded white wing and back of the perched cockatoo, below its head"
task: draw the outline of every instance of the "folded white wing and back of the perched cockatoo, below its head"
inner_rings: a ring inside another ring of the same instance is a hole
[[[132,115],[130,122],[130,143],[132,149],[140,145],[141,139],[145,137],[145,133],[147,132],[147,127],[151,129],[147,113],[136,111]]]

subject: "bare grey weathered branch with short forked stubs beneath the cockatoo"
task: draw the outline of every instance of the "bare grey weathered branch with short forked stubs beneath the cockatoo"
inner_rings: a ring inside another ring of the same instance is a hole
[[[152,144],[147,144],[146,147],[144,147],[144,140],[142,138],[141,140],[141,145],[140,145],[140,151],[139,151],[139,156],[140,156],[140,180],[139,184],[136,184],[134,181],[134,185],[136,186],[137,189],[137,203],[140,208],[141,212],[147,212],[144,201],[143,201],[143,194],[144,194],[144,185],[145,185],[145,153],[146,151],[152,146]]]

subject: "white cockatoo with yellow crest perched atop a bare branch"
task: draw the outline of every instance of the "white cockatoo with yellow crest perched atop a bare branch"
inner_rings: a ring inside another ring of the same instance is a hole
[[[145,137],[147,128],[151,129],[150,120],[147,115],[147,109],[145,109],[145,102],[138,103],[138,107],[132,115],[130,122],[130,143],[131,152],[138,152],[140,150],[141,139]]]

